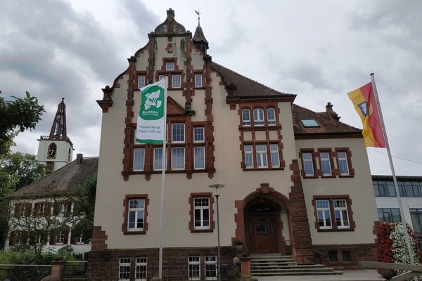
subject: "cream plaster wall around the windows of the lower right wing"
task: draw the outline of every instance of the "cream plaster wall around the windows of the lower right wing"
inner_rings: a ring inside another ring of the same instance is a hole
[[[341,141],[341,145],[339,142]],[[351,178],[302,178],[307,204],[312,244],[355,244],[373,243],[374,222],[378,221],[375,195],[373,194],[369,161],[362,139],[327,139],[320,141],[297,141],[297,153],[300,148],[335,148],[348,147],[352,151],[352,168],[355,176]],[[315,228],[314,195],[350,195],[352,216],[356,223],[354,231],[317,232]]]

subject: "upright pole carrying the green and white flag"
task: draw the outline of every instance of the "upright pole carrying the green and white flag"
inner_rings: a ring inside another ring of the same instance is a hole
[[[161,164],[161,205],[160,205],[160,251],[158,259],[158,277],[162,280],[162,232],[164,227],[164,191],[165,191],[165,169],[166,169],[166,143],[167,143],[167,75],[165,79],[165,91],[164,91],[164,137],[162,139],[162,164]]]

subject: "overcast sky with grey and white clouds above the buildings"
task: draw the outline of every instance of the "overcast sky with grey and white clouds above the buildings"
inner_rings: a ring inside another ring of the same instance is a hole
[[[29,91],[46,107],[13,151],[37,154],[65,98],[75,154],[97,156],[96,100],[145,46],[172,8],[194,32],[200,25],[212,60],[362,129],[347,92],[371,81],[383,112],[395,174],[422,176],[422,1],[419,0],[13,0],[0,11],[2,96]],[[368,148],[372,174],[391,174],[385,148]]]

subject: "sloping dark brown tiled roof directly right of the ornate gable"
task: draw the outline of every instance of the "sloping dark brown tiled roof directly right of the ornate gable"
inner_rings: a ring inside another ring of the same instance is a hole
[[[266,96],[274,96],[274,97],[285,97],[291,98],[292,102],[295,99],[296,95],[293,93],[281,93],[274,89],[269,88],[269,86],[265,86],[263,84],[258,83],[248,77],[245,77],[233,70],[229,70],[228,68],[219,65],[218,63],[211,62],[210,66],[213,70],[219,72],[222,76],[222,80],[226,87],[234,87],[234,91],[229,91],[229,96],[227,98],[252,98],[252,97],[266,97]]]

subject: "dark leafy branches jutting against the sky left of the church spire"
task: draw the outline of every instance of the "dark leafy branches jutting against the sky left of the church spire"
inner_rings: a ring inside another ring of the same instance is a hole
[[[0,155],[10,150],[13,138],[19,132],[35,129],[45,112],[44,106],[39,105],[37,98],[28,92],[25,98],[12,98],[14,100],[5,100],[0,96]]]

